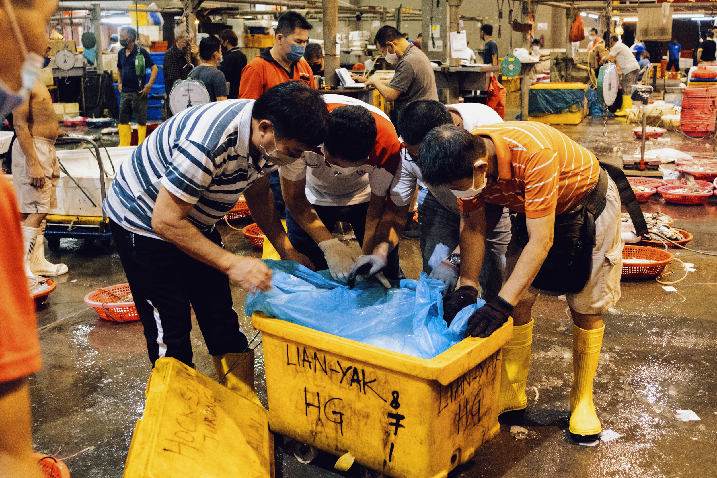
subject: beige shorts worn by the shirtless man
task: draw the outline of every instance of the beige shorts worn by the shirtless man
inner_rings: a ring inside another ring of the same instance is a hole
[[[17,204],[23,214],[47,214],[57,208],[57,183],[60,182],[60,162],[54,151],[54,141],[32,137],[32,145],[45,173],[42,189],[30,184],[30,168],[18,140],[12,145],[12,183]]]

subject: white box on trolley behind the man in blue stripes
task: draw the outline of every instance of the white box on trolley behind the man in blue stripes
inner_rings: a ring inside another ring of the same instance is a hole
[[[105,191],[110,189],[114,178],[112,164],[115,165],[115,171],[119,169],[122,162],[129,157],[135,150],[136,146],[124,147],[108,147],[100,148],[100,157],[102,157],[103,167],[110,177],[105,177]],[[50,214],[60,215],[85,215],[85,216],[101,216],[102,215],[102,192],[100,190],[100,168],[97,160],[95,160],[94,150],[90,152],[88,149],[82,150],[58,150],[57,157],[65,167],[67,172],[77,181],[87,195],[92,197],[95,206],[92,206],[85,194],[79,187],[75,185],[70,177],[64,172],[60,172],[60,182],[57,184],[57,209],[50,210]]]

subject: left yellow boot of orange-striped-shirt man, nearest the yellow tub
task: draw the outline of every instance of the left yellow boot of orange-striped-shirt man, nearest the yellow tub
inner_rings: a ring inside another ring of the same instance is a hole
[[[503,364],[500,369],[498,395],[498,421],[503,424],[523,424],[528,370],[531,367],[533,319],[524,326],[513,327],[513,338],[503,346]],[[517,413],[511,413],[517,412]]]

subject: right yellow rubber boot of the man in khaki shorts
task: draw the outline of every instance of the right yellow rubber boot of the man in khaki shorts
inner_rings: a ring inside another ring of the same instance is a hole
[[[605,326],[586,331],[573,324],[573,387],[570,390],[570,433],[576,442],[594,442],[602,431],[592,402],[592,381]]]

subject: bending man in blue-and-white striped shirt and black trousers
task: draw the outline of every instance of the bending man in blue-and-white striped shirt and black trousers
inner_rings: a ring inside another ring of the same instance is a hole
[[[330,123],[318,91],[288,82],[257,100],[186,109],[120,166],[103,208],[153,364],[163,356],[192,364],[190,304],[219,376],[227,373],[222,356],[247,352],[227,275],[247,291],[267,291],[271,271],[224,250],[214,227],[242,192],[282,258],[313,268],[291,246],[268,200],[269,175],[323,142]],[[244,366],[233,374],[253,384],[254,360],[244,358],[234,359]]]

